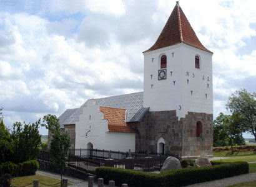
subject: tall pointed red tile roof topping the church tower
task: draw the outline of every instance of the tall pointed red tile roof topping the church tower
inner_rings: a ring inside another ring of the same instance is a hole
[[[170,17],[157,41],[145,52],[150,52],[163,47],[169,47],[178,43],[186,43],[187,45],[191,45],[206,52],[212,53],[199,41],[197,35],[195,35],[194,30],[187,20],[187,17],[179,6],[179,2],[177,1],[177,4],[174,7],[172,14],[170,14]]]

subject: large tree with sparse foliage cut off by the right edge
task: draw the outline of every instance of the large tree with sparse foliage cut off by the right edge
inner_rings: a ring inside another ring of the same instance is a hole
[[[254,135],[256,141],[256,93],[248,93],[246,89],[235,91],[229,97],[227,109],[232,114],[239,114],[239,124],[244,132]]]

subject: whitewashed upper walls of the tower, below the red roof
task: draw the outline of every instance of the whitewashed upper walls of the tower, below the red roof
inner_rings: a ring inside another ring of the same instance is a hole
[[[158,80],[163,54],[167,56],[167,78]],[[200,69],[195,68],[195,55],[200,56]],[[150,111],[176,110],[179,117],[185,117],[188,111],[212,114],[212,54],[184,43],[144,53],[144,107],[150,107]]]

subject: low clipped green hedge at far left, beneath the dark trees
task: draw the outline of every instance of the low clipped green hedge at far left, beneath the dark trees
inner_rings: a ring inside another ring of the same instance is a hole
[[[38,168],[39,163],[37,160],[29,160],[18,164],[4,162],[0,165],[0,176],[4,174],[9,174],[11,176],[34,175]]]

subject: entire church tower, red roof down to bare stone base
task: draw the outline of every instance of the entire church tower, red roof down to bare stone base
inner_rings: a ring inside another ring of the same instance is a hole
[[[175,5],[158,39],[144,54],[144,103],[134,125],[137,152],[212,157],[212,52]]]

